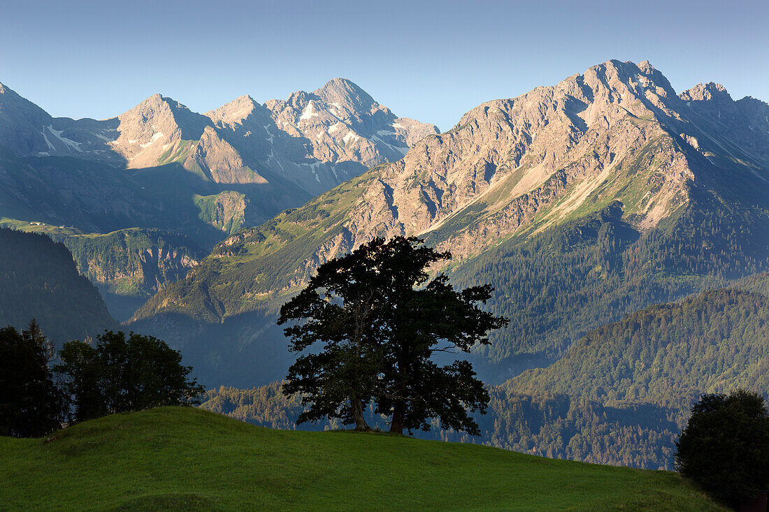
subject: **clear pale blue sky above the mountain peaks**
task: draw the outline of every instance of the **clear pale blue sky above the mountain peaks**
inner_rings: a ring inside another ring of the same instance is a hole
[[[483,101],[610,58],[677,91],[769,101],[769,2],[0,0],[0,81],[49,113],[108,118],[160,92],[194,111],[355,81],[448,130]]]

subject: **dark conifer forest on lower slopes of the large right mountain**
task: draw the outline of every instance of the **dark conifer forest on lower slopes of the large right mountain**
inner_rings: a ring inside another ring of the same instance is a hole
[[[639,234],[615,202],[524,241],[504,242],[462,264],[461,286],[491,282],[495,314],[510,319],[481,354],[561,357],[591,329],[629,311],[669,302],[769,268],[769,222],[714,193]]]

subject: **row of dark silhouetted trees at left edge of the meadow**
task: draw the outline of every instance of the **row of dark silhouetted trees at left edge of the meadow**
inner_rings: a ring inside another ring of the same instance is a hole
[[[51,365],[52,361],[60,361]],[[41,437],[67,424],[123,411],[197,404],[181,354],[155,337],[105,331],[95,344],[55,351],[33,320],[0,329],[0,435]]]

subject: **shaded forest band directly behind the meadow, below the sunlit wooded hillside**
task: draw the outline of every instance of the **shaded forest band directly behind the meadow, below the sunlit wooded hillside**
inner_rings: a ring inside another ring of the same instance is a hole
[[[202,408],[262,427],[323,431],[344,428],[340,421],[318,421],[297,426],[303,411],[298,398],[286,398],[281,382],[249,390],[219,387],[203,397]],[[528,454],[596,464],[672,469],[674,440],[679,429],[668,419],[677,411],[634,404],[607,407],[566,395],[512,394],[489,389],[488,414],[475,415],[481,435],[443,430],[438,421],[431,431],[414,437],[486,444]],[[371,427],[386,430],[388,418],[366,411]]]

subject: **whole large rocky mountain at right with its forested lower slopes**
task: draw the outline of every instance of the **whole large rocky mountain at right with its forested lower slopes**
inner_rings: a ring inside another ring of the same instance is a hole
[[[475,361],[501,382],[587,331],[769,262],[769,105],[721,85],[677,94],[648,62],[609,61],[518,98],[218,244],[131,324],[217,384],[285,371],[275,311],[318,264],[375,236],[449,250],[511,318]],[[214,341],[218,340],[218,341]],[[224,379],[225,381],[221,381]]]

